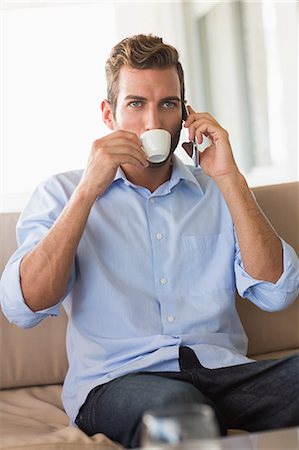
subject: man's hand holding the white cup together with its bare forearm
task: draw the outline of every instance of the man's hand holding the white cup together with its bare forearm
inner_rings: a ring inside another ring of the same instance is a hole
[[[116,131],[94,142],[69,202],[46,236],[22,260],[22,292],[32,311],[49,308],[63,297],[90,209],[122,164],[148,166],[136,134]]]

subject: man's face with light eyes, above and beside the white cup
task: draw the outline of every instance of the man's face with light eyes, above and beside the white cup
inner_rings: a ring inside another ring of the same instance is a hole
[[[164,129],[172,136],[171,151],[178,144],[182,127],[180,81],[175,67],[132,69],[122,67],[118,80],[114,130],[144,131]]]

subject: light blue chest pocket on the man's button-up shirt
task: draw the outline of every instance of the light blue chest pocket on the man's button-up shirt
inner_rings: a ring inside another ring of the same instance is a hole
[[[190,294],[235,289],[234,241],[230,235],[185,236],[184,251]]]

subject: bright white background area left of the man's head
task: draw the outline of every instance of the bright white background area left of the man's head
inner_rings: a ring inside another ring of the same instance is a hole
[[[113,6],[42,6],[3,11],[2,210],[21,208],[51,174],[84,167],[107,133],[100,101]]]

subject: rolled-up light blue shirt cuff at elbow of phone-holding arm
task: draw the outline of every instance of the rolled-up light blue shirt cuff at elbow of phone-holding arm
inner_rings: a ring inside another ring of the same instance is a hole
[[[239,246],[235,256],[237,291],[265,311],[279,311],[288,307],[299,294],[299,262],[293,248],[281,239],[283,273],[276,283],[257,280],[244,269]]]

